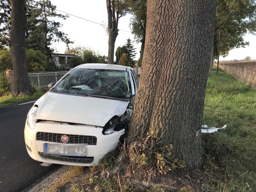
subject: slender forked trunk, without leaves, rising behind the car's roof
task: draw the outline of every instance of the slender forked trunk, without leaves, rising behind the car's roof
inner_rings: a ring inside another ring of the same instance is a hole
[[[108,64],[114,64],[114,48],[118,35],[119,11],[115,13],[115,1],[106,0],[108,10]],[[118,2],[118,0],[117,0]],[[118,3],[117,3],[118,4]],[[117,14],[117,17],[115,16]]]

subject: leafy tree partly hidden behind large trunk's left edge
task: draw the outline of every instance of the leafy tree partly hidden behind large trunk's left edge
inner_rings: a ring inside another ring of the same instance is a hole
[[[130,27],[137,43],[141,43],[140,61],[143,60],[145,47],[146,23],[147,23],[147,0],[128,0],[130,13]]]

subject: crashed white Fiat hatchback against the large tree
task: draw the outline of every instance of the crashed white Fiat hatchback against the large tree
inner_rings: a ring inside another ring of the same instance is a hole
[[[93,166],[124,135],[139,80],[134,70],[110,64],[75,67],[29,110],[27,151],[34,160]]]

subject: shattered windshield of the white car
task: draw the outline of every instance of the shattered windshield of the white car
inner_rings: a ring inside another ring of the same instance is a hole
[[[127,71],[109,69],[73,69],[53,91],[130,98],[131,82]]]

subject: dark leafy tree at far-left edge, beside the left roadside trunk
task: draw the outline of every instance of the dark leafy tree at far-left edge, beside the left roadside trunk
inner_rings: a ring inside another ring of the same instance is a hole
[[[0,1],[0,49],[8,47],[8,31],[11,29],[10,0]]]

